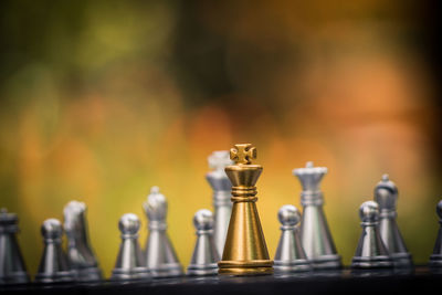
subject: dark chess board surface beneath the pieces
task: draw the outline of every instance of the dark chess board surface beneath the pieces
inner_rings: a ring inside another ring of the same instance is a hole
[[[4,294],[432,294],[440,288],[442,274],[427,266],[411,273],[365,271],[352,274],[349,268],[328,273],[263,276],[208,276],[151,280],[150,282],[94,284],[25,284],[0,286]]]

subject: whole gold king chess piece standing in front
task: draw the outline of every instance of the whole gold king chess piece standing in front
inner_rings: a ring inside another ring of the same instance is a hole
[[[233,207],[222,260],[218,263],[219,274],[272,274],[273,261],[255,204],[255,183],[263,170],[261,165],[252,165],[256,148],[251,144],[234,145],[230,158],[235,165],[225,167],[225,173],[232,182]]]

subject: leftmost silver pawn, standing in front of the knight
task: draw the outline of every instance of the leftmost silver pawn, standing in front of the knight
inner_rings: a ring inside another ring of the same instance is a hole
[[[44,250],[35,275],[35,282],[60,283],[74,281],[74,274],[62,249],[62,223],[57,219],[46,219],[41,228],[41,233],[44,239]]]

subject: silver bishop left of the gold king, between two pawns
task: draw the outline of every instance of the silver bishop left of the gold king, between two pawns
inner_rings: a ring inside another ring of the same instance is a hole
[[[173,277],[183,274],[182,266],[167,235],[167,201],[158,187],[150,189],[150,194],[144,203],[149,220],[145,260],[154,277]]]

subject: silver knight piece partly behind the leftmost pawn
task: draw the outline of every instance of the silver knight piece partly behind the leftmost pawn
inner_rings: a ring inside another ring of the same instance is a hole
[[[67,236],[67,260],[78,282],[102,280],[98,262],[90,245],[86,206],[71,201],[64,207],[64,231]]]

